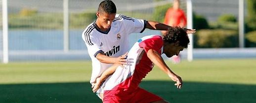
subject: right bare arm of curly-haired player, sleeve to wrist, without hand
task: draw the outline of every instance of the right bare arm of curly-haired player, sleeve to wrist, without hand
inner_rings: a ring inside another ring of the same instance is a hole
[[[156,52],[154,50],[149,50],[147,52],[147,56],[155,65],[157,65],[162,71],[164,71],[166,74],[168,74],[169,77],[172,77],[175,75],[171,71],[171,69],[166,65],[164,59],[158,52]]]

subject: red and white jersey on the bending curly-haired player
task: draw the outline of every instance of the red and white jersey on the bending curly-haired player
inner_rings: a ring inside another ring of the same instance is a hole
[[[104,92],[109,90],[135,90],[142,78],[153,68],[153,62],[148,58],[147,52],[150,49],[163,52],[163,38],[159,35],[149,35],[139,39],[128,52],[128,64],[119,66],[115,73],[106,79],[103,88]]]

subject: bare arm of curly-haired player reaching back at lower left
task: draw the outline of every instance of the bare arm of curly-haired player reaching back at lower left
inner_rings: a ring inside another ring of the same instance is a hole
[[[101,83],[104,80],[106,80],[109,76],[111,76],[116,71],[118,66],[120,65],[114,64],[113,66],[109,67],[106,71],[104,71],[100,77],[96,78],[96,82],[92,87],[93,93],[95,93],[99,89]]]

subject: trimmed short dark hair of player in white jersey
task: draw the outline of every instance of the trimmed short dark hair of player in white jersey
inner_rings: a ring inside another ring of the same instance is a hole
[[[112,0],[103,0],[99,3],[98,12],[117,13],[117,7]]]

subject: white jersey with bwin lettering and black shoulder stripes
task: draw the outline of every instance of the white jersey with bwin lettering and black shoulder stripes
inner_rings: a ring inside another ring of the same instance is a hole
[[[128,36],[130,33],[141,33],[146,27],[145,20],[130,18],[117,14],[108,31],[96,27],[95,22],[87,26],[82,34],[89,56],[92,61],[90,83],[100,76],[112,64],[101,63],[95,56],[104,52],[110,57],[118,57],[128,52]]]

